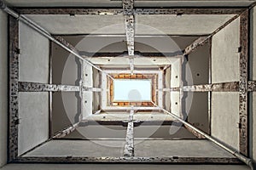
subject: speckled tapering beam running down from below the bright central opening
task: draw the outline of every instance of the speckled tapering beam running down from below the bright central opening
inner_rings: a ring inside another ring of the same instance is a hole
[[[127,131],[126,131],[125,150],[124,150],[125,157],[134,156],[133,114],[134,114],[134,109],[132,107],[129,115]]]

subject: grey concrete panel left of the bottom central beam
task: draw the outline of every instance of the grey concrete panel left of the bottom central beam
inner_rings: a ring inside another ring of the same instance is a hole
[[[26,156],[123,156],[125,140],[51,140]]]

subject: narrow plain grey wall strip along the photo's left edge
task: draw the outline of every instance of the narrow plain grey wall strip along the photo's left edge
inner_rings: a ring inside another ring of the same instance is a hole
[[[7,15],[0,11],[0,167],[6,163],[7,159],[7,32]]]

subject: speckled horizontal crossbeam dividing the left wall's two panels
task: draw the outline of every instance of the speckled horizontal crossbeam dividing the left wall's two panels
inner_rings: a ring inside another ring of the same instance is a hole
[[[19,92],[79,92],[79,86],[19,82]]]

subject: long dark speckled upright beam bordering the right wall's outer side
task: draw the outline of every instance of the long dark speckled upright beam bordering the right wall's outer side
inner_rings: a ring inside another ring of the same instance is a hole
[[[239,57],[240,80],[239,80],[239,148],[241,154],[248,155],[247,138],[247,62],[248,62],[248,10],[240,16],[240,45]]]

